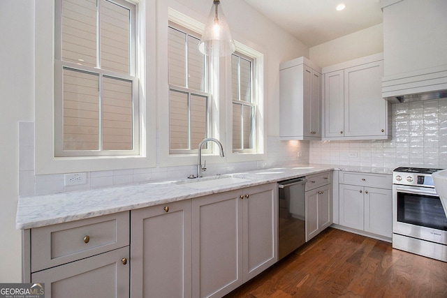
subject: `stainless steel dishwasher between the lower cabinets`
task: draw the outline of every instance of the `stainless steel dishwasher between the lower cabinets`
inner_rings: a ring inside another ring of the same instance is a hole
[[[278,260],[306,242],[304,177],[278,182]]]

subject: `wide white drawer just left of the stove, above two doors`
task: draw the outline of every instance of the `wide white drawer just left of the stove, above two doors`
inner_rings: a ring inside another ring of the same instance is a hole
[[[386,189],[393,188],[393,179],[390,174],[340,172],[339,183]]]

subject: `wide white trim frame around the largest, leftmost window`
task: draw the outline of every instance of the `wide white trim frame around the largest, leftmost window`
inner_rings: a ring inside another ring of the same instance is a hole
[[[140,154],[134,156],[57,157],[54,151],[55,1],[35,3],[34,123],[36,175],[125,170],[156,165],[156,0],[129,0],[136,10],[136,54],[140,78]]]

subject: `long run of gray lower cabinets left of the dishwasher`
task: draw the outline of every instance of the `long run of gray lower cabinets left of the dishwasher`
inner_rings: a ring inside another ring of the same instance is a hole
[[[276,183],[24,230],[47,298],[221,297],[276,261]]]

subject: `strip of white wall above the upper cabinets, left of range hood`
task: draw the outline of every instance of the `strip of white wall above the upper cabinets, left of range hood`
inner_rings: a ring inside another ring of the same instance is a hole
[[[323,68],[380,52],[383,52],[383,24],[311,47],[309,59]]]

